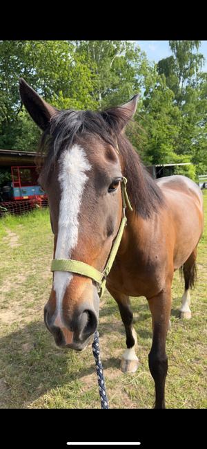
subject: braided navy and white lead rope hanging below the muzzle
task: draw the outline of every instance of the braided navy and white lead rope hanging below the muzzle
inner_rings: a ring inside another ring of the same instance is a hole
[[[108,399],[106,395],[105,381],[103,377],[103,367],[101,363],[101,349],[99,346],[99,333],[95,332],[95,338],[92,342],[92,352],[95,356],[96,368],[97,368],[97,376],[99,383],[99,394],[101,398],[101,408],[108,408]]]

